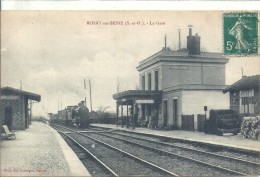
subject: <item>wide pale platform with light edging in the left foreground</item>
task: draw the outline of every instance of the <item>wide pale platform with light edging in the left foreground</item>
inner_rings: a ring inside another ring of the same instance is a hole
[[[0,176],[90,176],[77,155],[49,125],[32,122],[1,140]]]

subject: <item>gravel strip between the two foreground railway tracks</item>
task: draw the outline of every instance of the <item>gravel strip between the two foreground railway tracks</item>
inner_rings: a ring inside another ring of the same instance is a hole
[[[136,156],[142,156],[142,158],[147,161],[161,165],[163,168],[174,170],[179,176],[248,176],[248,174],[239,171],[234,171],[229,168],[208,163],[207,161],[191,158],[186,154],[173,153],[159,148],[154,148],[152,145],[148,146],[117,138],[111,140],[111,136],[97,135],[93,133],[89,136],[117,146],[120,149],[125,149],[127,152],[133,153]],[[115,141],[115,139],[117,141]]]

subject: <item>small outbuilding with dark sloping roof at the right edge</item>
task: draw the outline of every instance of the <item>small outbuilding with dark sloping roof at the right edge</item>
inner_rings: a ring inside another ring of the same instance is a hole
[[[243,76],[227,87],[224,93],[230,93],[230,109],[239,114],[260,114],[260,75]]]

